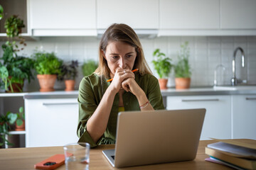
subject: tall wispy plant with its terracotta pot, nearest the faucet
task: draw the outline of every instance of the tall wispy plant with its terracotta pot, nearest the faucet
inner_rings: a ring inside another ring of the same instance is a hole
[[[191,67],[188,61],[189,48],[188,42],[181,45],[178,53],[178,62],[174,66],[176,89],[189,89],[191,84]]]

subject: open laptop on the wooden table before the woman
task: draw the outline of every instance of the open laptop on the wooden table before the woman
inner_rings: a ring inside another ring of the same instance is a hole
[[[193,160],[205,114],[205,108],[120,112],[115,149],[102,152],[116,168]]]

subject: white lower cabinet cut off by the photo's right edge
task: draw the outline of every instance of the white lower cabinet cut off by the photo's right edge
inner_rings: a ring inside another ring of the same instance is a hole
[[[233,95],[233,138],[256,140],[256,95]]]

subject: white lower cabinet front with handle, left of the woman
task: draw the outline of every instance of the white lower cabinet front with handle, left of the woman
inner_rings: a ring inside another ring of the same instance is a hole
[[[78,142],[78,98],[25,98],[26,147]]]

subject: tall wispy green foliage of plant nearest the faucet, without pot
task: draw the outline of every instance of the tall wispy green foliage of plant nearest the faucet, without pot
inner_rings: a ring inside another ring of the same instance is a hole
[[[191,77],[191,67],[188,62],[189,57],[189,47],[188,42],[184,42],[181,45],[181,50],[178,52],[178,62],[174,66],[175,77],[190,78]]]

